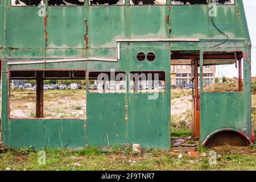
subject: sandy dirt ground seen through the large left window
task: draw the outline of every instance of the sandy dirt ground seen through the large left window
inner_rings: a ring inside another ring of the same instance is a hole
[[[11,90],[10,117],[35,117],[36,93]],[[86,116],[85,90],[44,90],[45,118],[80,118]]]

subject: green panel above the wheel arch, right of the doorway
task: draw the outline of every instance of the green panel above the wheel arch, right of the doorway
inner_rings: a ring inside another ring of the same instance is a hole
[[[248,55],[246,49],[243,53]],[[202,61],[202,60],[201,60]],[[203,67],[201,67],[203,70]],[[218,130],[233,129],[253,140],[251,128],[250,60],[243,59],[244,86],[242,92],[211,93],[201,89],[200,139],[203,142]],[[202,75],[201,75],[202,79]],[[203,88],[201,83],[201,88]]]

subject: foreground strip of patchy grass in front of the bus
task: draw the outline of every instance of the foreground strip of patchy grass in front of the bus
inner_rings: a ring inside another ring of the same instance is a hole
[[[219,155],[209,164],[209,151]],[[256,150],[250,147],[200,148],[198,155],[152,148],[137,154],[129,145],[114,146],[109,152],[89,147],[77,150],[47,149],[46,164],[39,164],[39,151],[32,147],[9,148],[0,154],[0,170],[255,170]],[[202,155],[202,153],[205,155]],[[183,157],[178,159],[178,155]]]

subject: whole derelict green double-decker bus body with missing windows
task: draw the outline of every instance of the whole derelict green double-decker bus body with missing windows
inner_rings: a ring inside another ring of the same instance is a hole
[[[191,65],[192,133],[201,144],[254,142],[242,0],[7,0],[0,19],[5,146],[170,148],[171,65]],[[207,92],[203,67],[222,64],[236,64],[238,89]],[[99,75],[110,84],[122,81],[122,92],[114,85],[90,90],[89,80]],[[86,118],[44,118],[43,80],[49,78],[86,80]],[[36,80],[34,117],[10,115],[13,79]]]

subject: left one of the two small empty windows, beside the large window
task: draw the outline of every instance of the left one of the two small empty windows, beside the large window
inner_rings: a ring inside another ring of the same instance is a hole
[[[90,93],[126,93],[125,72],[89,72]]]

